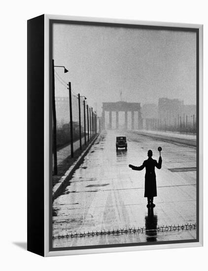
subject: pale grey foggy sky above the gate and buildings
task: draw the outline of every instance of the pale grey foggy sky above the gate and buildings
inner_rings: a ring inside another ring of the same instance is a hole
[[[196,104],[196,33],[54,24],[56,72],[101,113],[102,102]],[[56,96],[68,90],[55,78]]]

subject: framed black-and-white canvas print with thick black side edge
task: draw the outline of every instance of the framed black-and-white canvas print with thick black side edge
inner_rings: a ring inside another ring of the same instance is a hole
[[[203,26],[28,21],[28,250],[203,245]]]

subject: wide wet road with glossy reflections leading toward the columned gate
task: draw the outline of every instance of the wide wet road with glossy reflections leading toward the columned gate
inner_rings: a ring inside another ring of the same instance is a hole
[[[128,150],[116,152],[116,135],[126,135]],[[144,198],[144,174],[128,167],[159,158],[156,169],[157,194],[154,213],[148,215]],[[179,169],[178,169],[179,168]],[[196,222],[196,148],[165,142],[137,132],[107,131],[96,140],[64,193],[53,203],[53,235],[71,232],[158,227]],[[170,170],[171,169],[171,170]],[[196,230],[153,232],[151,235],[125,234],[84,238],[54,238],[54,247],[117,243],[186,240],[196,238]]]

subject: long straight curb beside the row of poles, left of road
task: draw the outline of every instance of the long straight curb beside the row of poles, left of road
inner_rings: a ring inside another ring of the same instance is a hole
[[[90,148],[92,147],[92,145],[94,144],[94,142],[96,141],[96,139],[98,139],[98,137],[100,135],[101,134],[98,134],[98,135],[96,135],[95,138],[93,138],[93,140],[90,142],[88,147],[82,152],[82,154],[78,157],[78,159],[65,172],[65,174],[61,177],[60,181],[53,187],[53,194],[52,194],[52,199],[53,200],[55,200],[57,198],[58,194],[60,193],[60,191],[64,187],[65,183],[67,181],[69,181],[69,179],[72,177],[74,171],[81,165],[81,163],[84,160],[84,157],[87,155]]]

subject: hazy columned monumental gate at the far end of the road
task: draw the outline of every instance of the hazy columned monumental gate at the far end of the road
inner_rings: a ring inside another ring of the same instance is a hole
[[[132,130],[135,129],[135,112],[138,113],[138,129],[142,129],[141,106],[139,102],[103,102],[102,125],[105,129],[105,111],[109,112],[109,129],[112,129],[112,112],[116,112],[116,129],[118,129],[118,112],[125,112],[125,129],[128,129],[128,112],[131,112]]]

